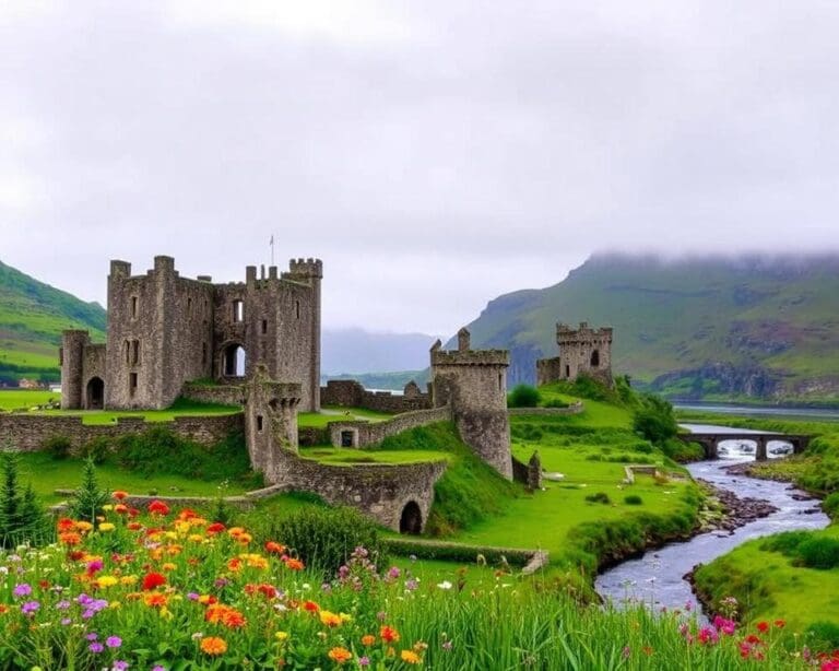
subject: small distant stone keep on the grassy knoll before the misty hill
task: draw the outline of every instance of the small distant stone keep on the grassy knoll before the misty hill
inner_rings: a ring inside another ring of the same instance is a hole
[[[559,356],[536,362],[536,384],[575,380],[588,375],[612,385],[612,329],[592,329],[584,321],[579,329],[556,325]]]

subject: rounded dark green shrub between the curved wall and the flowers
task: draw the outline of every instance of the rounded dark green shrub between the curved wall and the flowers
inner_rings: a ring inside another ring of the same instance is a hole
[[[261,530],[297,552],[311,568],[333,575],[358,546],[382,566],[386,552],[378,527],[354,508],[300,508]]]

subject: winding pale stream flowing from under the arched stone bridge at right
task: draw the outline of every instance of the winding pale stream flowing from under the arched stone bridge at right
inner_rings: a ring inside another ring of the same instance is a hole
[[[692,431],[718,431],[723,427],[690,425]],[[729,429],[731,431],[731,429]],[[741,429],[736,429],[742,433]],[[778,444],[780,447],[782,444]],[[770,457],[776,442],[768,447]],[[623,562],[603,573],[596,580],[598,592],[616,605],[641,601],[651,608],[684,609],[690,602],[696,604],[690,585],[683,579],[696,564],[707,564],[714,557],[725,554],[736,545],[770,533],[797,529],[822,529],[829,519],[818,506],[818,499],[805,496],[788,483],[757,480],[745,475],[730,475],[725,467],[741,461],[751,461],[753,450],[741,440],[721,443],[725,448],[722,458],[716,461],[698,461],[687,468],[694,478],[701,478],[716,486],[730,490],[741,498],[752,497],[768,501],[778,507],[778,511],[736,529],[733,533],[712,531],[694,537],[682,543],[671,543],[659,550],[651,550],[643,556]],[[743,450],[746,451],[743,451]],[[795,494],[796,501],[792,495]],[[697,607],[698,608],[698,607]]]

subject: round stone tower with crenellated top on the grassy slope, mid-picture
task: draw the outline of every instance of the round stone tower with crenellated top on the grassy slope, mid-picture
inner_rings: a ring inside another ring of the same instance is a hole
[[[507,417],[507,350],[472,350],[466,329],[458,349],[432,348],[434,405],[451,404],[461,438],[505,478],[512,479],[510,424]]]

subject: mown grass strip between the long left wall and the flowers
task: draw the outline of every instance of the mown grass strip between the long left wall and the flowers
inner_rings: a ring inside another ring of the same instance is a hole
[[[56,496],[56,490],[73,490],[82,479],[81,459],[52,459],[44,452],[23,452],[21,459],[21,480],[31,482],[40,499],[55,504],[67,498]],[[110,491],[123,490],[130,494],[152,494],[161,496],[215,496],[221,481],[205,481],[181,475],[155,474],[145,478],[115,464],[104,463],[96,467],[99,484]],[[244,490],[236,483],[225,487],[227,495],[241,494]]]

